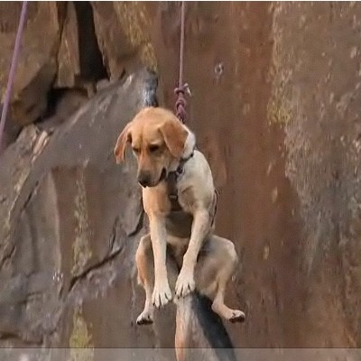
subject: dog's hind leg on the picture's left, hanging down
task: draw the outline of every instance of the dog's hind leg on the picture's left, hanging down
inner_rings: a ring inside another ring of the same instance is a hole
[[[138,282],[145,291],[145,304],[142,313],[136,319],[138,325],[153,323],[154,306],[152,302],[154,284],[154,261],[151,235],[141,238],[135,254],[135,263],[138,269]]]

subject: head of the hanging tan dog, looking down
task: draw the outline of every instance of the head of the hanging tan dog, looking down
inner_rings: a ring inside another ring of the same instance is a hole
[[[168,176],[182,156],[190,155],[195,139],[171,111],[147,107],[119,135],[114,149],[117,163],[124,161],[126,143],[132,145],[138,161],[138,182],[143,187],[154,187]]]

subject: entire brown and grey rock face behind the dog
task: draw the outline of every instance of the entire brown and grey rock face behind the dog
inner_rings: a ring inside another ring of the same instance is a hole
[[[154,91],[139,69],[174,106],[180,5],[77,6],[29,9],[0,158],[1,342],[171,347],[171,308],[153,328],[132,323],[144,230],[134,163],[116,167],[112,149]],[[0,9],[2,84],[19,9]],[[247,315],[226,325],[236,347],[360,346],[360,26],[357,3],[187,4],[189,125],[218,186],[217,232],[241,260],[227,295]],[[49,90],[56,103],[99,79],[78,113],[32,124]]]

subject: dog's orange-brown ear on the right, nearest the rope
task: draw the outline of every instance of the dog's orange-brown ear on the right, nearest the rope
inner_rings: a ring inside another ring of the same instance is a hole
[[[178,120],[167,120],[159,128],[164,143],[175,158],[180,158],[184,151],[188,132]]]

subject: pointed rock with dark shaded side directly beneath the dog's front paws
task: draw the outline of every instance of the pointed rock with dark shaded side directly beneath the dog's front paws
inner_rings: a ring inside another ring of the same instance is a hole
[[[211,301],[193,292],[184,301],[177,302],[176,344],[187,347],[184,361],[205,359],[209,361],[236,361],[232,341],[222,319],[211,309]],[[199,347],[202,347],[200,349]],[[207,355],[201,355],[206,353]],[[200,358],[199,358],[200,357]]]

